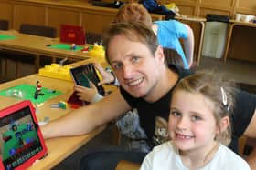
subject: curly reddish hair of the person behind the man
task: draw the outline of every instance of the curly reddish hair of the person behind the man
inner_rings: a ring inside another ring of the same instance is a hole
[[[143,5],[138,3],[128,3],[122,5],[115,16],[113,23],[122,23],[128,21],[141,22],[149,27],[152,25],[151,15],[147,12]]]

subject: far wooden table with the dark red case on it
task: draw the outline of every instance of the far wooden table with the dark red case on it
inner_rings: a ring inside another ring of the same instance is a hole
[[[0,49],[12,52],[21,52],[31,54],[35,57],[35,72],[39,68],[40,56],[49,56],[52,58],[52,63],[56,63],[57,58],[68,58],[71,61],[80,61],[90,58],[89,55],[83,53],[81,50],[64,50],[51,48],[47,45],[58,45],[59,38],[48,38],[37,35],[20,34],[16,30],[0,31],[0,35],[14,35],[13,39],[0,40]],[[26,57],[26,55],[21,55]],[[16,63],[16,78],[19,77],[19,65]],[[5,73],[7,72],[5,63]]]

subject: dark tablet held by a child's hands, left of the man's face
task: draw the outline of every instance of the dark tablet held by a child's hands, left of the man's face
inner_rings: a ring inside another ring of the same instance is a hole
[[[98,85],[100,78],[92,63],[86,65],[76,66],[70,69],[70,74],[76,85],[90,87],[90,81],[97,87],[101,95],[105,95],[102,85]]]

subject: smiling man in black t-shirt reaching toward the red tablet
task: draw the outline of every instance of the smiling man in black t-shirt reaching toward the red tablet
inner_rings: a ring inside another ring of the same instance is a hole
[[[109,25],[103,36],[106,58],[120,87],[100,102],[82,106],[41,126],[44,138],[84,135],[137,108],[140,123],[151,148],[165,142],[170,96],[179,80],[192,73],[176,65],[165,65],[163,48],[155,33],[138,22]],[[232,114],[233,131],[229,145],[237,149],[241,135],[256,137],[256,96],[238,90]],[[165,125],[166,123],[166,125]],[[59,128],[61,127],[61,128]],[[85,155],[80,169],[114,169],[120,160],[141,163],[145,153],[101,151]],[[251,157],[251,160],[256,160]]]

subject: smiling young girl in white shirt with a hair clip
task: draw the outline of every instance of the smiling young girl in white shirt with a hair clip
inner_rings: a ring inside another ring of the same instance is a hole
[[[171,102],[171,141],[146,155],[141,170],[250,169],[225,146],[231,135],[233,87],[231,82],[209,71],[181,80]]]

